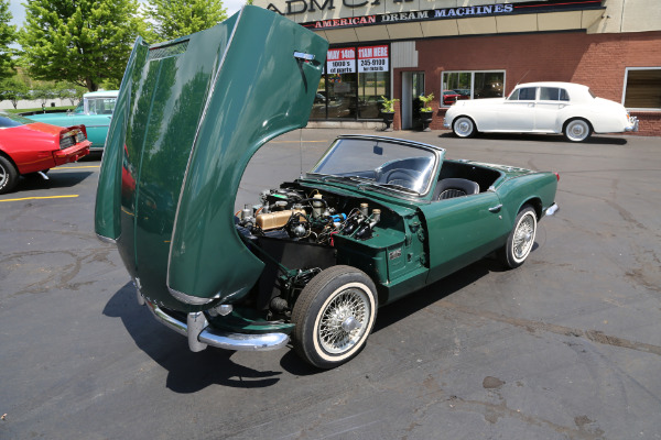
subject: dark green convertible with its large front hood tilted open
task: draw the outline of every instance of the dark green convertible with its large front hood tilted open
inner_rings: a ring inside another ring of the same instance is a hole
[[[138,41],[106,145],[96,231],[138,301],[188,346],[274,350],[340,365],[380,306],[490,253],[529,256],[557,175],[445,160],[445,150],[344,135],[314,168],[238,215],[250,157],[307,123],[327,42],[247,6],[209,30]]]

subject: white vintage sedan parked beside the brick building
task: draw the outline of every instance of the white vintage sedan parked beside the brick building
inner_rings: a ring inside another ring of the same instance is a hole
[[[638,131],[638,119],[579,84],[528,82],[507,98],[457,101],[445,113],[444,127],[459,138],[477,132],[563,133],[582,142],[593,132]]]

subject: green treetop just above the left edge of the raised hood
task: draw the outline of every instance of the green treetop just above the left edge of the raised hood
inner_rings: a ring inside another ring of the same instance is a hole
[[[219,0],[149,0],[145,22],[161,41],[209,29],[227,19]]]

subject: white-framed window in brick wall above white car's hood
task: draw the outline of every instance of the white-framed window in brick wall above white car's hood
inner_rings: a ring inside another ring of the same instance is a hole
[[[502,70],[444,72],[443,105],[452,106],[456,99],[500,98],[505,92],[503,85]]]

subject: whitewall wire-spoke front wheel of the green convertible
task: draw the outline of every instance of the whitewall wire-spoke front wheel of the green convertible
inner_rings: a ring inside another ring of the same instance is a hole
[[[377,318],[372,280],[350,266],[322,271],[301,292],[292,321],[296,353],[319,369],[334,369],[364,348]]]

